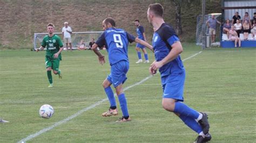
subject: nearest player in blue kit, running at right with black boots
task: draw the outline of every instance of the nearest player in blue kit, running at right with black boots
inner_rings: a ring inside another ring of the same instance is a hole
[[[159,3],[150,4],[147,10],[147,19],[155,30],[152,46],[156,58],[149,70],[153,75],[159,69],[163,88],[163,108],[175,113],[188,127],[199,134],[196,142],[206,142],[211,140],[207,114],[183,103],[185,68],[180,58],[183,47],[173,27],[164,22],[163,13],[164,8]]]

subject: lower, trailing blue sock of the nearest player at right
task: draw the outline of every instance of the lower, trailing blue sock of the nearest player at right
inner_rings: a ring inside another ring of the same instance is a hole
[[[183,122],[190,127],[193,131],[197,132],[198,134],[202,132],[202,127],[197,123],[197,121],[191,117],[180,115],[179,118],[183,120]]]

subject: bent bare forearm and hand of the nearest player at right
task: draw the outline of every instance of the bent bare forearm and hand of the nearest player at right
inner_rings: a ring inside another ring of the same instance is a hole
[[[172,44],[172,50],[171,52],[161,61],[153,62],[150,67],[152,70],[157,70],[161,67],[163,67],[166,63],[169,63],[170,61],[177,58],[177,56],[183,52],[183,47],[181,46],[181,43],[179,41]]]

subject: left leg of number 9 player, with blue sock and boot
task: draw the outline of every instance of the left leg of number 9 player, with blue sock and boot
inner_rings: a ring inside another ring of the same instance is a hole
[[[116,98],[114,98],[113,90],[110,87],[111,84],[112,84],[112,77],[110,74],[109,76],[107,76],[107,78],[102,83],[105,93],[107,95],[107,98],[109,99],[109,102],[110,102],[109,110],[102,113],[102,116],[104,116],[104,117],[108,117],[108,116],[112,116],[112,115],[116,116],[118,114]]]

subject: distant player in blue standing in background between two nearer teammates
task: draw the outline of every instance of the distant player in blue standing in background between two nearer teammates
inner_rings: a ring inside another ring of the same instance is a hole
[[[137,27],[136,32],[137,32],[138,38],[141,39],[141,40],[147,41],[146,40],[146,34],[145,34],[145,31],[144,31],[144,27],[139,24],[139,20],[134,20],[134,25]],[[142,61],[142,54],[140,53],[140,49],[142,49],[142,51],[144,53],[144,57],[145,57],[144,63],[149,63],[149,58],[147,56],[146,48],[145,48],[144,45],[139,44],[139,43],[136,44],[136,51],[137,51],[138,58],[139,58],[139,60],[136,63],[143,62]]]

